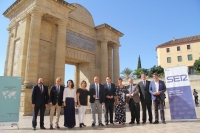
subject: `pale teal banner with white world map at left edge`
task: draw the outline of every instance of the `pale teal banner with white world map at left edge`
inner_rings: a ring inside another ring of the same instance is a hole
[[[0,127],[19,122],[21,77],[0,76]]]

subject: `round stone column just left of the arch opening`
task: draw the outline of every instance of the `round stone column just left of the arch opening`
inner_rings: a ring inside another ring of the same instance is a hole
[[[66,22],[57,21],[57,43],[56,43],[56,58],[55,58],[55,79],[61,77],[64,83],[65,78],[65,51],[66,51]]]

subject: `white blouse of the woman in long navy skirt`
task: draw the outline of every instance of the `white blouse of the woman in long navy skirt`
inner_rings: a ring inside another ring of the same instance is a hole
[[[74,102],[77,102],[76,89],[70,89],[66,87],[63,92],[63,101],[65,101],[66,98],[74,98]]]

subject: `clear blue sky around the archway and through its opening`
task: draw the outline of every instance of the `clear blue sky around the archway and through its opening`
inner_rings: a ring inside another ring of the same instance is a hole
[[[3,12],[15,0],[0,1],[0,76],[4,74],[9,19]],[[200,34],[200,0],[66,0],[84,6],[95,26],[107,23],[124,33],[120,39],[120,71],[157,65],[157,45]],[[66,66],[66,80],[73,79],[73,66]]]

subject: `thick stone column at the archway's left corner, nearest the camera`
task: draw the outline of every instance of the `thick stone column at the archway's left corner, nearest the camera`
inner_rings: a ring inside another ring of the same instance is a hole
[[[38,73],[38,55],[40,42],[40,27],[43,13],[39,10],[31,11],[31,24],[28,39],[25,81],[26,87],[37,83]]]

